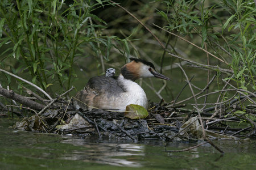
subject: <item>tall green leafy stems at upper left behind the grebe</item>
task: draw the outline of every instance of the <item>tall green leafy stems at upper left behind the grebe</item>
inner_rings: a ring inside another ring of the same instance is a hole
[[[1,1],[0,48],[8,46],[1,66],[53,94],[53,84],[61,91],[71,87],[74,62],[88,56],[86,50],[108,59],[113,41],[122,40],[101,36],[106,23],[92,12],[109,3],[70,2]]]

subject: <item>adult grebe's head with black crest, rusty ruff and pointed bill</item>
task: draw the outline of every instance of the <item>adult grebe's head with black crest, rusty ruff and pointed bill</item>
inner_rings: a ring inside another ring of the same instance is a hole
[[[156,72],[155,66],[141,58],[130,58],[131,62],[124,65],[121,69],[121,74],[124,78],[137,80],[139,78],[156,77],[164,80],[171,80],[167,76]]]

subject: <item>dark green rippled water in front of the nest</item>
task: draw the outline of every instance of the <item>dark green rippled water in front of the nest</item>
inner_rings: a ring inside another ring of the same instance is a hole
[[[61,136],[8,128],[0,118],[0,169],[255,169],[256,140],[214,141],[185,152],[165,152],[162,141],[114,141]],[[170,143],[181,150],[196,143]]]

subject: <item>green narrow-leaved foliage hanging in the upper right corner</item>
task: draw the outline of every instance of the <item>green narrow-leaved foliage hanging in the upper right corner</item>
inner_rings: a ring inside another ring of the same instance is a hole
[[[166,28],[183,36],[199,35],[202,48],[207,44],[214,49],[214,54],[228,61],[238,88],[251,86],[255,90],[256,8],[253,0],[164,3],[168,10],[159,10],[158,14],[167,20]]]

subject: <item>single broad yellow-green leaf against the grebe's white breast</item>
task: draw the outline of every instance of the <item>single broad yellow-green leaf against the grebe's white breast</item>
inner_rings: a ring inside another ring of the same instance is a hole
[[[147,110],[141,105],[130,104],[127,105],[125,111],[125,117],[131,119],[146,118],[148,116]]]

